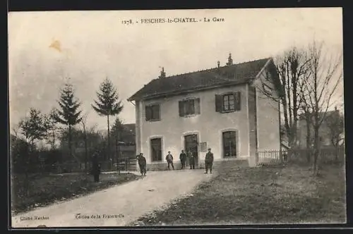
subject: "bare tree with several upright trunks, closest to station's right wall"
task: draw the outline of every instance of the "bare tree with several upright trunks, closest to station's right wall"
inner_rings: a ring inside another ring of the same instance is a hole
[[[297,142],[297,123],[299,120],[299,109],[301,104],[301,86],[308,73],[309,60],[305,56],[305,51],[292,47],[275,61],[275,69],[279,75],[278,79],[272,79],[269,75],[262,82],[261,93],[265,97],[270,97],[280,101],[280,109],[288,137],[289,147],[294,147]],[[266,85],[272,82],[273,86]]]

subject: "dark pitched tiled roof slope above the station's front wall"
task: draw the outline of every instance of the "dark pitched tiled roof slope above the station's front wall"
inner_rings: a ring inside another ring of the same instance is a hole
[[[138,90],[138,92],[128,98],[128,101],[181,94],[224,85],[243,84],[255,78],[269,59],[271,58],[222,66],[220,68],[198,70],[166,78],[157,78],[151,80],[142,89]]]

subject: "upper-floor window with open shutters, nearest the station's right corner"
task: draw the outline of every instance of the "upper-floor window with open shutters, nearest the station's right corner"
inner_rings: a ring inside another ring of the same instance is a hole
[[[240,111],[240,92],[215,95],[216,111],[220,113]]]

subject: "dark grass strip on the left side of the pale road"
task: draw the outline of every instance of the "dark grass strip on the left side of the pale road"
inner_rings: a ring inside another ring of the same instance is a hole
[[[13,214],[30,211],[35,207],[43,207],[54,202],[88,195],[113,185],[119,185],[140,176],[132,173],[102,173],[101,183],[94,183],[93,176],[85,173],[68,174],[35,174],[30,177],[28,195],[22,191],[24,176],[11,178],[11,208]]]

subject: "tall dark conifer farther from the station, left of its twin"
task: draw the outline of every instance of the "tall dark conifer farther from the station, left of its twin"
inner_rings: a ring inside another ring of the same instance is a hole
[[[61,110],[56,109],[56,114],[53,115],[54,120],[58,123],[68,126],[68,150],[70,156],[74,156],[72,154],[71,145],[71,128],[73,128],[74,125],[80,123],[82,117],[80,116],[81,111],[78,111],[78,107],[80,107],[81,103],[74,96],[74,90],[71,84],[66,83],[64,88],[61,89],[58,103]],[[78,160],[76,159],[76,161]]]

